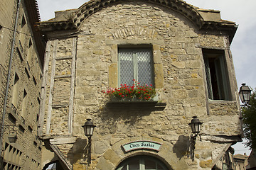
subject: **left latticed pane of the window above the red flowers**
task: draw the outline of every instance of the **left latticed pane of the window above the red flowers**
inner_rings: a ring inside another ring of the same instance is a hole
[[[120,84],[131,86],[134,79],[133,52],[127,50],[119,51],[119,77]]]

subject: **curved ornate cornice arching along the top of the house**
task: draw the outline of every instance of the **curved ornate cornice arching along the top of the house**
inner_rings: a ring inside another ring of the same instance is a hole
[[[130,0],[130,1],[136,1],[136,0]],[[141,0],[140,0],[141,1]],[[102,8],[106,8],[107,6],[110,6],[112,4],[119,4],[121,2],[127,2],[127,0],[92,0],[89,1],[80,8],[78,8],[78,11],[75,13],[75,16],[73,18],[73,22],[75,23],[75,26],[79,28],[81,23],[85,21],[85,18],[92,15],[93,13],[99,11]],[[185,16],[190,20],[191,22],[195,23],[198,28],[201,28],[203,26],[203,18],[198,13],[196,8],[191,6],[190,4],[186,4],[184,1],[180,0],[145,0],[145,2],[149,2],[151,4],[157,4],[159,6],[164,6],[166,8],[170,8],[171,10],[174,10],[178,13],[181,13],[181,15]]]

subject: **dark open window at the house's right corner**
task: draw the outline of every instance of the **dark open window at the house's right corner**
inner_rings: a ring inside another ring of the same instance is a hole
[[[230,88],[224,50],[203,50],[208,98],[229,100]]]

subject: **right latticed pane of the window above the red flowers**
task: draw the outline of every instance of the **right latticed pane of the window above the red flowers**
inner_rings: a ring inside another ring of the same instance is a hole
[[[153,84],[150,50],[140,50],[137,52],[137,67],[138,81],[142,84]]]

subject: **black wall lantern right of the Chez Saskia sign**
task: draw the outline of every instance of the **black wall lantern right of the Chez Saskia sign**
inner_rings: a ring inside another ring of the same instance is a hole
[[[192,130],[192,134],[191,134],[191,138],[190,138],[192,161],[194,161],[194,157],[195,157],[194,151],[195,151],[195,145],[196,145],[196,137],[200,133],[202,124],[203,123],[200,122],[200,120],[197,118],[197,116],[193,116],[191,123],[188,124],[188,125],[190,125],[191,130]]]

